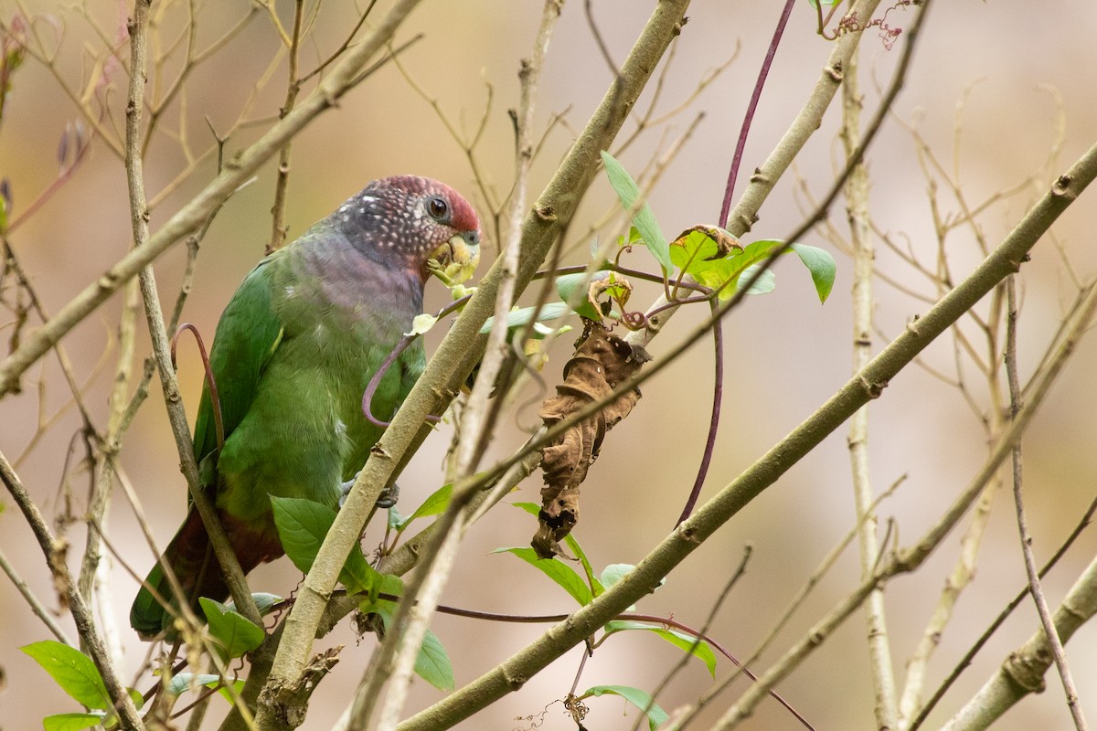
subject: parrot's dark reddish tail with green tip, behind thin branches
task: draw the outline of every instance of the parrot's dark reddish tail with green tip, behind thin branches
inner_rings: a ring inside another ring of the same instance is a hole
[[[222,523],[225,525],[244,573],[248,573],[261,562],[282,555],[282,546],[276,538],[271,545],[265,536],[257,536],[230,518],[226,521],[224,514]],[[210,536],[199,512],[192,507],[179,533],[168,544],[163,557],[157,561],[145,579],[129,609],[129,625],[137,630],[142,639],[155,639],[161,632],[165,632],[168,639],[173,639],[177,635],[173,624],[179,615],[180,603],[168,578],[163,574],[163,562],[171,567],[183,590],[183,601],[194,608],[199,618],[205,617],[199,606],[200,596],[217,602],[228,598],[228,584],[214,556]]]

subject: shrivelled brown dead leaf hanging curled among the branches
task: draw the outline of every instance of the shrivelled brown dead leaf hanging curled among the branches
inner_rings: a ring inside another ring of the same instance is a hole
[[[584,322],[586,327],[576,342],[575,353],[564,366],[564,382],[556,387],[556,396],[541,406],[540,415],[545,426],[557,424],[588,403],[608,397],[652,359],[643,347],[630,345],[601,323]],[[638,400],[638,389],[622,395],[542,450],[545,487],[541,489],[540,526],[532,541],[539,557],[552,558],[559,552],[559,540],[579,521],[579,486],[598,457],[606,432],[627,416]]]

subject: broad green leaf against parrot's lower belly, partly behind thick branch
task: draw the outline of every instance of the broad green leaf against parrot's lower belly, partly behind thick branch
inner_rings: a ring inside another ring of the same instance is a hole
[[[320,550],[324,537],[336,521],[336,512],[318,502],[303,498],[271,495],[274,526],[282,548],[293,564],[308,573]],[[377,572],[370,567],[361,549],[352,550],[339,572],[339,582],[352,593],[370,591]]]

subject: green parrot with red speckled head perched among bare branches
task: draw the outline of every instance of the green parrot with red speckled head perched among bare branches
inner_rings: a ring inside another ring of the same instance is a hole
[[[371,378],[422,312],[431,274],[472,272],[479,236],[476,212],[449,185],[386,178],[245,277],[220,316],[210,353],[224,445],[208,380],[193,437],[201,487],[245,573],[285,552],[271,495],[338,510],[383,432],[363,412]],[[417,339],[374,392],[370,406],[377,420],[392,418],[425,365]],[[174,596],[158,561],[129,613],[129,624],[146,640],[174,633],[180,601],[196,605],[199,596],[229,595],[193,505],[161,560],[185,596]]]

